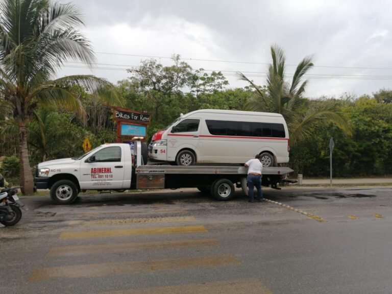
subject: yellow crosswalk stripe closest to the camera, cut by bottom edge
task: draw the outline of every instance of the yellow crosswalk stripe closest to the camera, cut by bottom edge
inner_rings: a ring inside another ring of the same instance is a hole
[[[99,294],[273,294],[256,279],[194,283],[166,287],[101,292]]]

